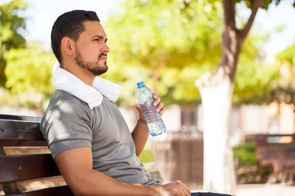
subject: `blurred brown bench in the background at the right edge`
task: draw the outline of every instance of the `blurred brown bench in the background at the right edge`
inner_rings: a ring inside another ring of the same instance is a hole
[[[286,138],[289,137],[289,138]],[[251,135],[255,151],[262,165],[271,165],[273,174],[295,174],[295,134]],[[282,139],[291,139],[282,143]]]

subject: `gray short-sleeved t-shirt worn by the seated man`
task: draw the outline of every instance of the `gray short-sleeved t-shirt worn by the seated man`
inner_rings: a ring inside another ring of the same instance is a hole
[[[91,147],[93,170],[126,183],[160,185],[138,160],[118,107],[105,97],[90,110],[86,102],[57,90],[42,118],[41,131],[53,158],[69,149]]]

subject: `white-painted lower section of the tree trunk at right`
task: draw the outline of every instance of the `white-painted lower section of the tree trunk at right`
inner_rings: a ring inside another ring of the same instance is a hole
[[[204,190],[236,195],[230,110],[234,85],[201,88],[204,115]]]

